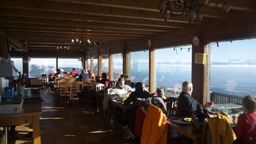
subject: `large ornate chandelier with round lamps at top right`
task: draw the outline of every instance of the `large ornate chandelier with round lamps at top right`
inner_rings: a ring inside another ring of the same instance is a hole
[[[163,13],[164,20],[168,20],[170,15],[179,16],[185,15],[186,19],[197,20],[198,22],[203,19],[202,13],[209,13],[216,10],[218,4],[222,4],[221,12],[227,14],[230,10],[229,2],[234,0],[215,0],[215,5],[211,10],[204,11],[203,7],[210,4],[209,0],[161,0],[158,3],[158,9]]]

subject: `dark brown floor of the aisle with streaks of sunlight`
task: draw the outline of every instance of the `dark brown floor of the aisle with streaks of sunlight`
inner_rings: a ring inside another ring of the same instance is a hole
[[[87,108],[76,100],[72,106],[65,102],[55,106],[52,93],[45,90],[40,93],[44,99],[40,118],[42,144],[138,143],[124,142],[122,129],[109,125],[102,113],[97,113],[95,104]],[[17,126],[16,131],[18,138],[9,139],[8,143],[33,143],[31,125]]]

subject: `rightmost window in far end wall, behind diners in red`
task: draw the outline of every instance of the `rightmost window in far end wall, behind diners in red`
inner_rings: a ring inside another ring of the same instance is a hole
[[[58,58],[58,68],[61,72],[72,72],[72,68],[76,68],[76,71],[81,73],[83,70],[81,58]]]

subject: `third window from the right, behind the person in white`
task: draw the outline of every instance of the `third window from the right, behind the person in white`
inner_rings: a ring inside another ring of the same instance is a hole
[[[143,82],[148,86],[148,51],[131,52],[131,81]]]

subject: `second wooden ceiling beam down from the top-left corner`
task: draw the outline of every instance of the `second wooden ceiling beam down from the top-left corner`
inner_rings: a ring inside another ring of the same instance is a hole
[[[164,20],[145,20],[145,19],[130,19],[122,17],[104,17],[98,15],[84,15],[81,13],[60,13],[60,12],[40,12],[37,10],[17,10],[13,8],[1,8],[0,15],[8,17],[28,17],[41,19],[56,19],[56,20],[80,20],[90,22],[102,22],[106,24],[130,24],[136,26],[156,26],[163,28],[186,28],[188,23],[180,22],[165,22]]]

